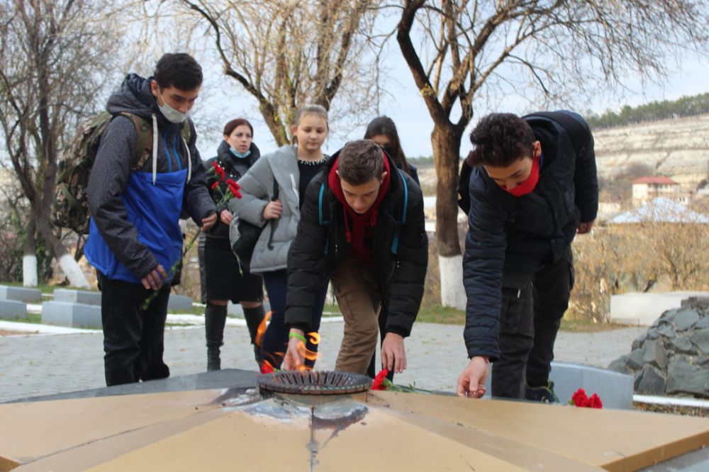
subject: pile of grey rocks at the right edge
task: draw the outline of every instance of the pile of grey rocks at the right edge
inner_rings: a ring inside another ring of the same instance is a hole
[[[635,378],[635,392],[709,398],[709,298],[668,310],[608,369]]]

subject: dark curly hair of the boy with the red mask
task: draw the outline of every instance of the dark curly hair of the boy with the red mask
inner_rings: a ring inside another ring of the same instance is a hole
[[[512,113],[491,113],[471,131],[475,149],[468,154],[471,166],[508,167],[523,157],[532,157],[536,138],[529,123]]]

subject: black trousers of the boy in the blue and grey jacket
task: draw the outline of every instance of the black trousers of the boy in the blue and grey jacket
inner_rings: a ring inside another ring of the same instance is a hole
[[[106,386],[148,380],[155,356],[162,358],[170,287],[160,289],[148,307],[140,305],[152,293],[139,283],[108,279],[99,272],[101,322],[104,327]]]

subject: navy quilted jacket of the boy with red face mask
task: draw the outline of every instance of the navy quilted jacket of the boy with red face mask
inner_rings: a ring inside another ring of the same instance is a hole
[[[464,330],[468,356],[496,361],[503,272],[533,274],[562,257],[579,222],[596,219],[598,179],[593,137],[576,155],[571,137],[550,120],[530,122],[542,144],[540,179],[532,193],[512,196],[476,167],[463,258],[468,302]],[[590,132],[589,132],[590,133]]]

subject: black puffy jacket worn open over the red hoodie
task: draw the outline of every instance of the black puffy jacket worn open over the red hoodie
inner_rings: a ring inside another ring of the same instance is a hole
[[[288,254],[288,295],[286,325],[309,327],[312,306],[318,288],[328,283],[335,269],[345,262],[350,243],[345,237],[342,203],[330,191],[328,173],[340,153],[330,157],[325,169],[308,184],[301,208],[298,234]],[[391,158],[389,168],[396,169]],[[398,231],[398,250],[392,252],[399,222],[403,221],[406,179],[408,193],[406,223]],[[322,206],[320,188],[323,187]],[[320,208],[323,209],[320,223]],[[380,203],[374,226],[373,254],[375,270],[380,276],[381,300],[389,307],[386,332],[404,337],[411,327],[423,297],[423,284],[428,267],[428,237],[423,216],[423,193],[411,176],[391,172],[389,188]]]

